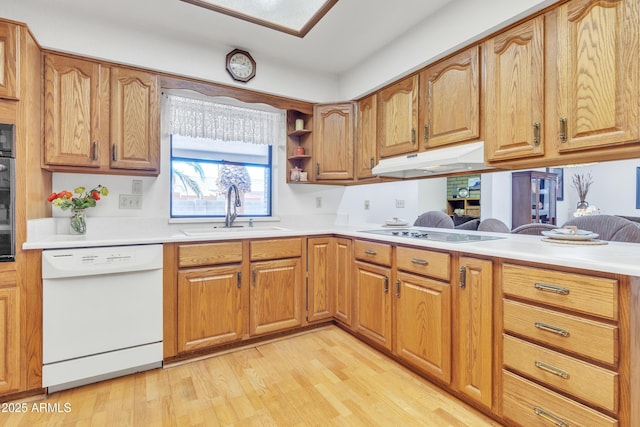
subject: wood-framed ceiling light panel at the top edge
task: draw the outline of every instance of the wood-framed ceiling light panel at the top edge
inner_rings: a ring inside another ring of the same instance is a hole
[[[181,0],[234,18],[304,37],[338,0]]]

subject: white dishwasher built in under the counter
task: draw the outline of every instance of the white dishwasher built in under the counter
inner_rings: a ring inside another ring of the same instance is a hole
[[[42,386],[162,366],[162,245],[42,251]]]

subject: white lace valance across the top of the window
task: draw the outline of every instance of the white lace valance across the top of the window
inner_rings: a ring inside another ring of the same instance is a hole
[[[284,112],[263,111],[168,95],[169,131],[191,138],[282,145]]]

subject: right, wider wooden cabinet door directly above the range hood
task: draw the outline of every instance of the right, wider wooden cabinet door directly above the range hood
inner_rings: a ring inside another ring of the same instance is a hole
[[[420,73],[423,148],[480,138],[479,46]]]

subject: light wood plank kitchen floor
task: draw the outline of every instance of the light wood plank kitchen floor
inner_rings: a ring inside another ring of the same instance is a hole
[[[34,412],[55,404],[61,412]],[[78,387],[3,426],[499,426],[337,327]],[[69,411],[64,413],[65,405]]]

